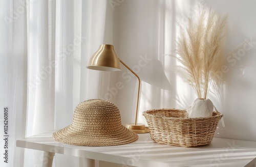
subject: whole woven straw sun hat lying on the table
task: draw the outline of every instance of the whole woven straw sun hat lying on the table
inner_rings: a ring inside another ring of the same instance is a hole
[[[138,135],[121,124],[119,109],[101,99],[81,102],[71,125],[53,133],[61,143],[79,146],[115,146],[134,142]]]

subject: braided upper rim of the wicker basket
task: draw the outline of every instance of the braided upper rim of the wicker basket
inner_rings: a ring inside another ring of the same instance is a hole
[[[166,116],[158,116],[158,115],[150,114],[150,112],[158,112],[158,111],[164,112],[164,111],[168,111],[168,110],[186,112],[186,109],[158,108],[158,109],[146,110],[142,113],[142,115],[147,116],[147,117],[155,117],[155,118],[162,118],[162,119],[168,119],[168,120],[195,120],[195,121],[197,121],[197,120],[207,120],[207,119],[211,119],[213,117],[223,117],[223,114],[221,114],[220,112],[217,112],[217,111],[214,111],[214,113],[216,114],[215,116],[198,117],[198,118],[166,117]]]

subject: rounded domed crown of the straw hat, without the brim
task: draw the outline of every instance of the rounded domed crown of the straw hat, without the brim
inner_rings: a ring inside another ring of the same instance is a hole
[[[122,128],[119,109],[110,101],[90,99],[75,108],[71,128],[80,132],[113,133]]]

